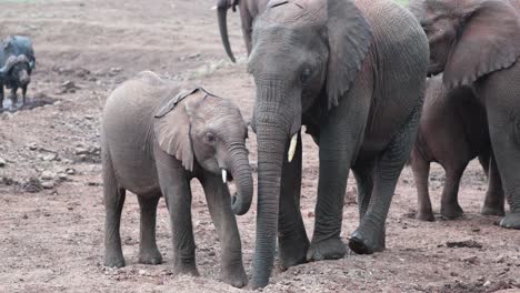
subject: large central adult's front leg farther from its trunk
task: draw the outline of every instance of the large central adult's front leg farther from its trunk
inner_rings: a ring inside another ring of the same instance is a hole
[[[344,192],[352,159],[362,143],[370,103],[370,95],[360,88],[352,89],[352,97],[344,97],[320,128],[320,174],[309,261],[340,259],[347,253],[340,239]]]

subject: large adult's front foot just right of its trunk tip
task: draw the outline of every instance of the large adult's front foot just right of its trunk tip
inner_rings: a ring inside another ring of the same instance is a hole
[[[309,240],[283,238],[279,239],[279,259],[282,270],[307,262],[307,252],[309,250]]]

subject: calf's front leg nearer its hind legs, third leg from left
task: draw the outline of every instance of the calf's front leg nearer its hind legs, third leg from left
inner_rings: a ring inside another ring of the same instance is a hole
[[[191,188],[181,162],[154,146],[159,185],[168,205],[173,242],[173,274],[199,275],[191,222]]]

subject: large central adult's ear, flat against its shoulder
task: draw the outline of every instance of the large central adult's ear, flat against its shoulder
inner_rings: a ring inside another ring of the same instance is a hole
[[[329,109],[339,104],[350,89],[368,53],[372,30],[364,14],[351,0],[329,0],[329,62],[327,94]]]

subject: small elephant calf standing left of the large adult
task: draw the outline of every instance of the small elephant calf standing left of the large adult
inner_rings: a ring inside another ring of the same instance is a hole
[[[156,244],[156,211],[168,206],[176,274],[198,274],[191,223],[190,180],[204,190],[221,241],[221,279],[247,284],[236,214],[246,213],[253,193],[246,149],[247,125],[231,102],[198,88],[180,92],[152,72],[141,72],[117,88],[102,122],[106,205],[104,265],[124,266],[119,234],[126,191],[138,195],[141,224],[139,262],[161,263]],[[237,184],[230,200],[228,180]]]

